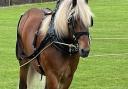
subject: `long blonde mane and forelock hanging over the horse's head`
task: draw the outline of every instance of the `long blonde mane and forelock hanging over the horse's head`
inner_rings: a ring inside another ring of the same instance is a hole
[[[72,12],[74,12],[74,17],[80,16],[80,19],[86,27],[90,26],[93,14],[85,0],[77,0],[77,5],[73,9],[72,0],[63,0],[54,20],[55,31],[58,36],[68,36],[68,18]]]

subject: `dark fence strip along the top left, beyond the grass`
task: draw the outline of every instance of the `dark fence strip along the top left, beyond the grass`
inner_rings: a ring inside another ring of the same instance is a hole
[[[0,0],[0,6],[10,6],[25,3],[41,3],[55,0]]]

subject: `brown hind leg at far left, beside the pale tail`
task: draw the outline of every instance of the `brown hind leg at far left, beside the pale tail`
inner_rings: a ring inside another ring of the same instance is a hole
[[[20,68],[19,89],[27,89],[27,73],[28,66],[23,66]]]

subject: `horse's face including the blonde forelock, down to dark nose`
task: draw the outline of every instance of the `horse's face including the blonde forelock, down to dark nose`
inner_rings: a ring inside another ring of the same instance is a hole
[[[81,57],[87,57],[90,52],[89,26],[91,25],[91,12],[87,5],[88,0],[72,0],[74,8],[78,8],[74,13],[75,33],[79,44],[79,54]],[[73,22],[73,21],[72,21]]]

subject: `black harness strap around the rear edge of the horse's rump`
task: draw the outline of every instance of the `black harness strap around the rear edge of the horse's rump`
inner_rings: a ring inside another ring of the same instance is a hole
[[[23,15],[21,15],[18,25],[17,25],[17,40],[16,40],[16,57],[18,60],[21,60],[23,58],[24,51],[23,51],[23,47],[22,47],[22,41],[21,41],[21,36],[19,33],[19,25],[20,25],[20,21],[22,19]]]

